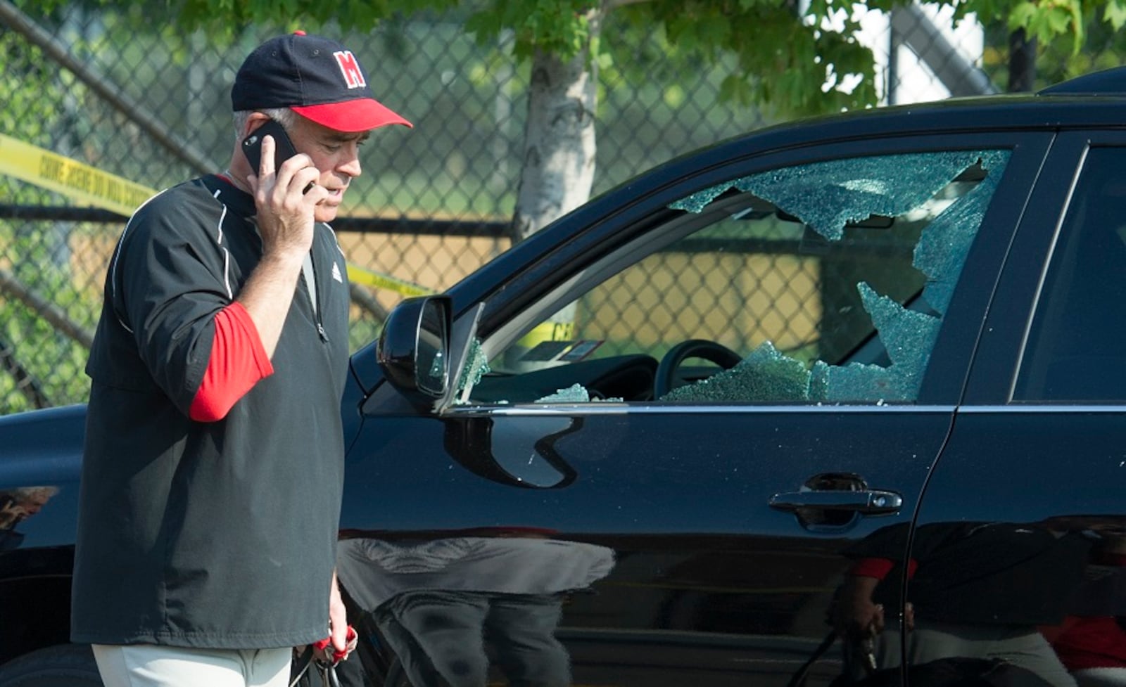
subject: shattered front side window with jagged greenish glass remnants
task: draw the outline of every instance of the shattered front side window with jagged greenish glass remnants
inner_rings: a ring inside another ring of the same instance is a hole
[[[608,259],[597,286],[491,352],[472,396],[910,403],[1008,159],[831,160],[692,193],[627,266]],[[711,353],[665,359],[689,341]]]

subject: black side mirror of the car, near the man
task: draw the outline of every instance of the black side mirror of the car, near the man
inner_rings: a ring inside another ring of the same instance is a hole
[[[403,300],[387,316],[375,358],[387,381],[408,400],[432,407],[449,389],[448,296]]]

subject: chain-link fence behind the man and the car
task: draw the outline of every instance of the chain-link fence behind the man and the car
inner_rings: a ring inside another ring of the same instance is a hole
[[[247,31],[217,47],[176,27],[137,30],[136,18],[117,10],[29,11],[0,0],[0,164],[18,156],[2,145],[16,141],[150,189],[226,166],[235,143],[231,82],[242,57],[277,30]],[[1012,82],[1009,58],[1018,53],[1004,30],[942,26],[918,7],[872,22],[867,39],[886,101]],[[613,16],[604,35],[616,35]],[[365,173],[333,224],[357,270],[358,347],[404,295],[445,289],[510,245],[528,69],[503,40],[476,44],[458,17],[396,19],[369,35],[337,37],[367,66],[377,97],[415,125],[373,136],[361,152]],[[654,28],[638,54],[660,55],[662,40]],[[1079,71],[1118,62],[1112,34],[1091,40],[1101,42],[1100,52]],[[661,83],[602,70],[593,191],[768,124],[753,108],[722,101],[726,66]],[[83,365],[123,223],[120,214],[82,207],[0,166],[0,414],[86,399]],[[804,281],[795,288],[797,298],[811,297]]]

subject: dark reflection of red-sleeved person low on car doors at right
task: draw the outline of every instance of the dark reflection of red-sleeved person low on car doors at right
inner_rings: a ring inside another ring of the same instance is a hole
[[[1075,687],[1039,627],[1063,622],[1091,543],[1064,521],[882,527],[844,552],[854,563],[833,622],[849,659],[863,659],[867,669],[899,667],[905,657],[922,681],[917,671],[928,665],[969,659],[989,667],[1000,660],[1020,669],[1007,685]],[[904,577],[908,600],[901,603]],[[846,666],[854,677],[861,675],[858,668]]]

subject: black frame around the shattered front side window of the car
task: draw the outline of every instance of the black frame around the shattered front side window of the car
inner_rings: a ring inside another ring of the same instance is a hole
[[[770,136],[766,138],[769,141]],[[457,313],[454,326],[457,326],[464,311],[482,302],[477,336],[482,340],[488,338],[515,313],[528,307],[542,293],[556,288],[566,278],[561,274],[561,265],[572,265],[572,271],[586,269],[601,254],[616,250],[636,235],[649,230],[654,223],[668,217],[668,214],[673,213],[668,209],[669,204],[732,179],[780,166],[813,164],[841,157],[1007,148],[1011,154],[1006,172],[998,183],[995,198],[1010,196],[1017,200],[1009,204],[992,202],[986,211],[978,236],[966,257],[963,277],[948,307],[948,313],[957,313],[958,316],[944,323],[918,399],[908,407],[953,406],[959,401],[964,390],[974,343],[984,320],[995,279],[1051,139],[1051,132],[1022,130],[908,132],[848,138],[837,132],[833,137],[826,139],[789,141],[788,144],[774,150],[756,151],[754,138],[750,138],[747,142],[747,155],[717,161],[714,164],[707,164],[705,161],[698,173],[690,177],[681,174],[668,178],[658,174],[654,186],[644,192],[638,191],[642,180],[651,177],[627,182],[545,228],[544,232],[549,234],[526,239],[525,245],[518,245],[511,254],[502,255],[490,265],[474,272],[449,290],[455,299]],[[707,154],[705,151],[701,156],[706,157]],[[682,159],[681,162],[683,160],[690,157]],[[618,205],[615,206],[615,202]],[[536,247],[540,251],[537,252]],[[463,292],[473,295],[475,299],[459,298]],[[461,370],[452,374],[456,379]],[[363,412],[370,414],[379,412],[379,408],[394,408],[396,412],[402,409],[403,405],[387,398],[387,385],[376,389],[364,404]],[[608,410],[613,406],[616,408],[615,412],[623,412],[623,407],[643,405],[671,408],[692,404],[633,401],[581,406],[571,404],[569,407]],[[747,404],[740,407],[785,405]],[[788,407],[797,408],[806,405],[792,404]],[[864,404],[855,407],[873,406]],[[513,407],[503,404],[457,405],[445,409],[443,414],[481,413],[489,409],[511,412]]]

